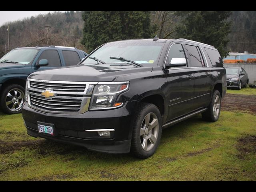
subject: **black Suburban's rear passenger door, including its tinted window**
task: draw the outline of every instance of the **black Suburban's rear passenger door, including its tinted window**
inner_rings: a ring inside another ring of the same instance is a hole
[[[192,110],[208,106],[211,92],[210,70],[200,46],[186,44],[189,66],[194,80],[194,102]]]

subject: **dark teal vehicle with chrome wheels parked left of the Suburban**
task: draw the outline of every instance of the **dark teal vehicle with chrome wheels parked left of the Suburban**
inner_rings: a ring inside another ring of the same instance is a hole
[[[78,64],[88,54],[73,47],[16,48],[0,58],[0,109],[20,113],[27,77],[36,71]]]

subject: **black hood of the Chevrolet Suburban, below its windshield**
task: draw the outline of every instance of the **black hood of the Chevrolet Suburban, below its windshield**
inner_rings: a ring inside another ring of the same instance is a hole
[[[111,64],[76,65],[52,70],[43,70],[32,73],[28,78],[54,81],[114,81],[119,76],[128,74],[151,72],[151,67],[112,66]]]

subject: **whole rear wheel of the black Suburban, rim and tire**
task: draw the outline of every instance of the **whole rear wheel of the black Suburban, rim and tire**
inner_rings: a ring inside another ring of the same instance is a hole
[[[221,96],[218,90],[213,90],[212,99],[206,112],[202,113],[202,118],[206,121],[215,122],[220,116]]]

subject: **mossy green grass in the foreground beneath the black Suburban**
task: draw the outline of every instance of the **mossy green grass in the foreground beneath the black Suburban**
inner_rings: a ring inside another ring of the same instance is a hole
[[[156,154],[140,160],[30,137],[20,114],[0,113],[0,180],[255,181],[255,141],[239,140],[255,135],[255,115],[198,115],[164,129]]]

